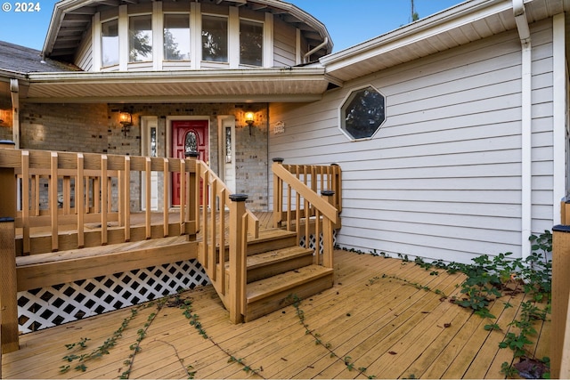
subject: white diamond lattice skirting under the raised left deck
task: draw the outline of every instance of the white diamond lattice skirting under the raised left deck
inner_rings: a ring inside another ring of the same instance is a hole
[[[115,311],[209,283],[198,261],[190,260],[19,292],[20,333]]]

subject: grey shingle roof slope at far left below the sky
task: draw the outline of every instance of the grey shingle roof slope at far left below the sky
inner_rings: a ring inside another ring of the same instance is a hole
[[[0,41],[0,69],[22,74],[32,72],[81,71],[69,63],[42,58],[42,52],[19,44]]]

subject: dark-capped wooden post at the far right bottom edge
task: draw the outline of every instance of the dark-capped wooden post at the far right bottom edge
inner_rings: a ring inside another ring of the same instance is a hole
[[[552,325],[550,378],[570,377],[570,226],[552,228]]]

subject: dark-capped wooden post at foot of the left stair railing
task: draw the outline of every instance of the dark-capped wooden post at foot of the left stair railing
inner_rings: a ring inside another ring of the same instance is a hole
[[[246,194],[230,195],[230,320],[241,323],[245,314],[247,218]]]

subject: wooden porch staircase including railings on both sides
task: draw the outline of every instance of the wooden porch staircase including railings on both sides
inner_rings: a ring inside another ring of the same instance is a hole
[[[274,163],[274,197],[285,202],[274,205],[274,228],[260,230],[256,216],[245,206],[248,196],[230,195],[204,162],[198,160],[196,165],[201,189],[195,193],[208,194],[209,205],[216,205],[202,207],[201,216],[196,217],[202,231],[198,260],[233,323],[277,311],[293,303],[291,295],[303,299],[333,286],[333,230],[339,226],[338,208],[333,204],[338,198],[333,197],[335,191],[323,188],[319,195],[316,186],[336,181],[338,167],[334,173],[318,167],[317,174],[316,166],[312,173],[297,168],[292,173],[281,162]],[[221,216],[225,213],[227,226]],[[309,248],[311,236],[318,239]],[[302,237],[305,247],[299,247]]]

